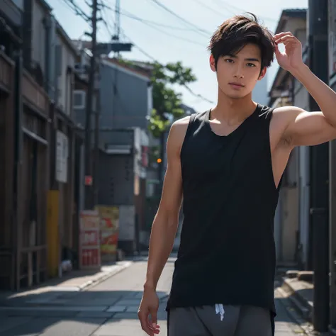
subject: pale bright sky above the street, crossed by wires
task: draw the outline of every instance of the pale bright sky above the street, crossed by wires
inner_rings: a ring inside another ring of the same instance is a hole
[[[87,39],[84,35],[91,28],[84,18],[69,7],[74,1],[86,14],[91,9],[86,2],[91,0],[46,0],[53,13],[72,39]],[[99,23],[99,42],[111,41],[115,33],[116,0],[99,0],[105,5],[101,11],[104,22]],[[166,7],[164,10],[159,4]],[[293,7],[295,3],[295,7]],[[213,107],[217,99],[215,73],[209,67],[207,46],[212,33],[225,19],[247,11],[258,16],[265,26],[274,32],[283,9],[308,7],[308,0],[120,0],[121,42],[133,43],[131,52],[123,52],[122,57],[131,60],[181,61],[191,67],[197,81],[189,86],[194,96],[184,88],[175,87],[182,94],[183,103],[205,111]],[[135,18],[136,17],[136,18]],[[278,69],[274,62],[268,70],[267,85],[271,86]]]

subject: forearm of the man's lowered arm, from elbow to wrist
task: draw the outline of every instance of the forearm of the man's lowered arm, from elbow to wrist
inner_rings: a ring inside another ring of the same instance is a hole
[[[178,216],[157,215],[155,217],[150,235],[150,253],[145,288],[156,289],[157,287],[164,265],[172,252],[177,223]]]

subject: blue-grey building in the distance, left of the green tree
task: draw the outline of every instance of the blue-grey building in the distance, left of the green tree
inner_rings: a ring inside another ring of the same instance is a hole
[[[77,41],[77,45],[80,45]],[[86,76],[85,53],[79,68]],[[101,57],[96,80],[96,113],[92,134],[99,132],[99,162],[96,164],[97,204],[119,208],[118,247],[128,254],[140,250],[145,235],[147,194],[147,130],[152,111],[152,88],[146,72],[114,58]],[[86,93],[76,90],[77,126],[86,124]],[[80,103],[82,101],[82,103]],[[97,130],[98,128],[98,130]],[[94,137],[92,146],[94,146]]]

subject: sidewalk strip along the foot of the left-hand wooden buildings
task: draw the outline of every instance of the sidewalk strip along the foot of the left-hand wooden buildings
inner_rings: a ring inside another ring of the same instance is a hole
[[[39,286],[22,291],[0,291],[0,306],[47,305],[60,296],[62,292],[86,291],[91,286],[105,281],[130,267],[132,260],[103,265],[98,271],[73,270],[62,278],[49,279]]]

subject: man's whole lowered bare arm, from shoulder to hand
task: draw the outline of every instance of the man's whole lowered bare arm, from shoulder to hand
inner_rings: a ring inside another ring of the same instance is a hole
[[[148,335],[157,333],[153,327],[157,323],[156,313],[159,304],[155,292],[164,264],[172,252],[179,223],[182,201],[180,152],[188,123],[189,117],[176,121],[170,129],[167,140],[167,172],[159,208],[152,224],[144,295],[138,312],[142,329]],[[149,315],[152,315],[150,321]]]

